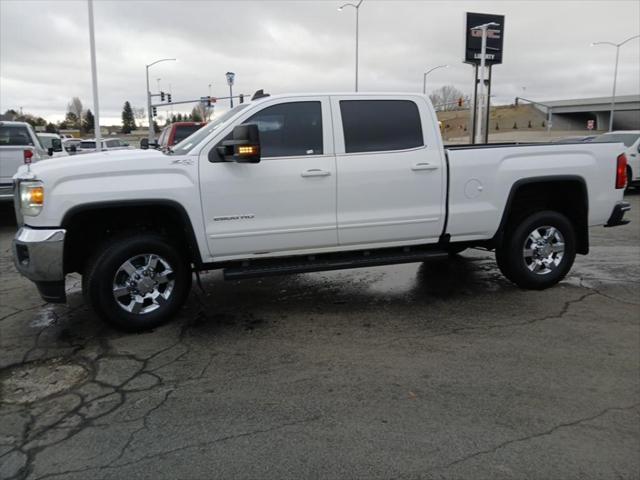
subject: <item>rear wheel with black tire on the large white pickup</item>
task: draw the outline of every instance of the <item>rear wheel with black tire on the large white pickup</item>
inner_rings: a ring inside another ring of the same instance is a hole
[[[528,252],[535,253],[527,253],[531,256],[526,257],[525,245],[530,246],[530,235],[534,231],[553,231],[545,227],[552,227],[557,235],[548,241],[548,246],[528,249]],[[564,251],[560,257],[560,252],[550,250],[559,249],[561,243],[564,243]],[[535,256],[538,252],[544,260],[538,260],[539,257]],[[554,211],[537,212],[523,218],[506,232],[501,248],[496,249],[496,261],[502,274],[519,287],[533,290],[551,287],[562,280],[571,269],[575,257],[576,234],[573,225],[567,217]],[[537,273],[534,271],[536,269]]]

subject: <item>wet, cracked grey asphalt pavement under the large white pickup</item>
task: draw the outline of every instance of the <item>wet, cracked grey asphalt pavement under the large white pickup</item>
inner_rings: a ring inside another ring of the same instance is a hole
[[[103,325],[13,268],[0,212],[0,478],[637,479],[640,195],[554,288],[489,252],[225,282]],[[6,207],[6,208],[5,208]]]

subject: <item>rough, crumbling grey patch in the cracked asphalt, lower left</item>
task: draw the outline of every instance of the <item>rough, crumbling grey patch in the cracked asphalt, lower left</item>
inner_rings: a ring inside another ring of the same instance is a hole
[[[82,365],[61,359],[29,362],[0,373],[0,403],[22,404],[42,400],[85,381]]]

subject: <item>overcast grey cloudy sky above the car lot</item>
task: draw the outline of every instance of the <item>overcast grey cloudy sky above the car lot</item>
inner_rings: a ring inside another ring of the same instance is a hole
[[[235,92],[350,91],[354,83],[355,11],[340,1],[95,0],[100,111],[120,123],[125,100],[145,105],[151,86],[174,100]],[[420,91],[422,73],[439,64],[428,89],[467,93],[462,63],[464,12],[504,14],[504,63],[494,68],[497,102],[610,95],[615,49],[640,33],[640,1],[365,0],[360,9],[360,90]],[[640,93],[640,41],[620,51],[618,93]],[[51,121],[70,98],[92,108],[87,3],[0,0],[0,111],[23,108]],[[179,111],[175,107],[175,111]],[[187,108],[183,108],[186,111]],[[189,109],[190,110],[190,109]]]

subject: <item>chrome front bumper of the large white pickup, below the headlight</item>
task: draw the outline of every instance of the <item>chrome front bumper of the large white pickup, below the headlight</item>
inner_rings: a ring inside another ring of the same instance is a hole
[[[64,237],[66,230],[22,227],[13,239],[13,261],[34,282],[47,302],[64,303]]]

